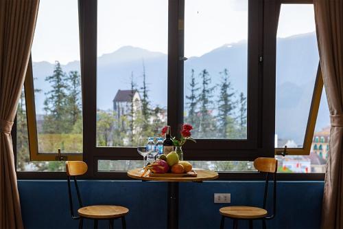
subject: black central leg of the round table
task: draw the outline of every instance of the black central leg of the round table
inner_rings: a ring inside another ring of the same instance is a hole
[[[178,228],[178,182],[168,182],[167,228]]]

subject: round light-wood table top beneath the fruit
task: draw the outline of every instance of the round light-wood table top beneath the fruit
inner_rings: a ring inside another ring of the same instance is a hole
[[[218,173],[214,171],[204,170],[200,168],[193,168],[196,173],[198,173],[197,177],[150,177],[149,175],[142,175],[142,168],[135,168],[128,171],[128,176],[134,179],[142,179],[142,180],[151,180],[151,181],[158,181],[158,182],[202,182],[211,179],[217,179]]]

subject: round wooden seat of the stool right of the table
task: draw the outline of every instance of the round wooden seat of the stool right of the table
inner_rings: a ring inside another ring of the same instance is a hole
[[[263,208],[249,206],[230,206],[220,208],[220,214],[234,219],[259,219],[268,215]]]

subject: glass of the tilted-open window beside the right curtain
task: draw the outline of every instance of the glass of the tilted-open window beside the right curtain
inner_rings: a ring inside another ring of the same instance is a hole
[[[303,148],[319,56],[312,4],[283,4],[276,50],[276,148]]]

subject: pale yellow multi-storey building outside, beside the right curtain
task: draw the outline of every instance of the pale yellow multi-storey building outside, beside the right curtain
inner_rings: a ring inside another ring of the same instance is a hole
[[[330,127],[325,127],[319,132],[314,133],[314,139],[311,144],[311,152],[327,160],[329,153]]]

